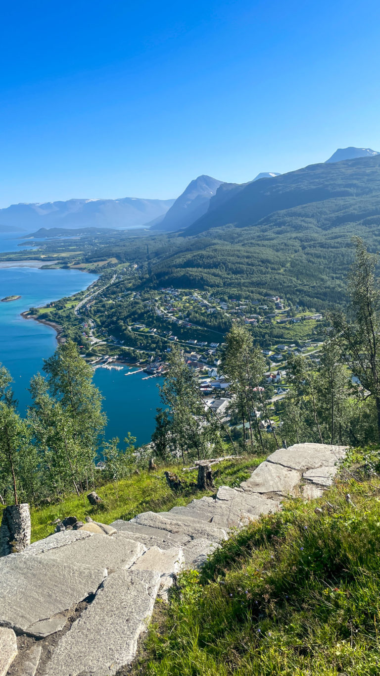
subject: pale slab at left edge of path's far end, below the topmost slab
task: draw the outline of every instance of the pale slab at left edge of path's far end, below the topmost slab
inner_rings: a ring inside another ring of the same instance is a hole
[[[269,456],[271,457],[271,456]],[[283,467],[273,462],[261,462],[252,472],[250,478],[240,486],[253,493],[277,493],[281,496],[298,495],[301,473],[290,467]]]

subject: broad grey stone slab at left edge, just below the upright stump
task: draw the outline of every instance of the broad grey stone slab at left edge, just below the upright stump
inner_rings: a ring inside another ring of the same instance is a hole
[[[94,594],[107,577],[104,567],[63,563],[43,556],[0,558],[0,626],[45,637],[62,629],[65,611]]]

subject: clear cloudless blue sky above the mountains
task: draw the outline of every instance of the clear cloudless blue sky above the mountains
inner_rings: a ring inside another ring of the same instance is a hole
[[[0,207],[380,150],[379,28],[379,0],[3,3]]]

